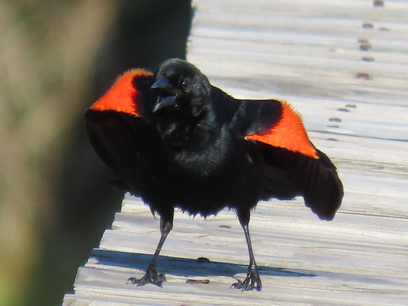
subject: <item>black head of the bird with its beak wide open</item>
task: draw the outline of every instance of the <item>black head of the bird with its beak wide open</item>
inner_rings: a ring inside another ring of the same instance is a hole
[[[159,65],[155,80],[151,86],[158,93],[154,113],[175,111],[198,117],[206,109],[211,85],[194,65],[169,59]]]

